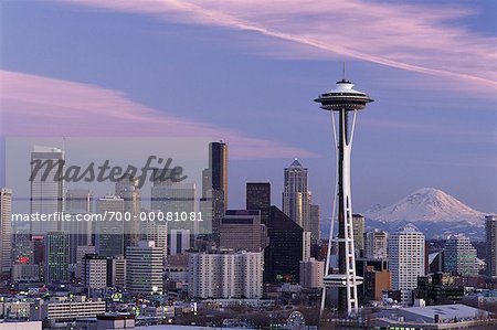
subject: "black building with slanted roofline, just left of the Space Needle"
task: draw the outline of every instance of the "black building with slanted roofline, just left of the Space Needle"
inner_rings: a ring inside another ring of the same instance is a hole
[[[264,283],[299,283],[304,230],[271,206],[267,226],[269,245],[264,249]]]

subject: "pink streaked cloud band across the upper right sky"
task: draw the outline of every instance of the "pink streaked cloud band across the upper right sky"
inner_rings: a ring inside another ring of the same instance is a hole
[[[303,46],[299,56],[339,55],[434,75],[468,92],[495,94],[496,38],[454,21],[467,8],[350,1],[60,0],[158,15],[184,23],[252,31]],[[284,51],[294,50],[288,47]]]

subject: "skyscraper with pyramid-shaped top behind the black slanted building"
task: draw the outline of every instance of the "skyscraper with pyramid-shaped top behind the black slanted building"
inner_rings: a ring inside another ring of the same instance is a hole
[[[284,171],[283,212],[304,231],[309,232],[309,191],[307,189],[307,168],[295,159]]]

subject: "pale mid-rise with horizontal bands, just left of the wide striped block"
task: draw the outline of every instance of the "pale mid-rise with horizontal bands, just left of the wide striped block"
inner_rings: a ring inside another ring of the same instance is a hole
[[[126,251],[126,289],[136,294],[162,292],[163,251],[152,241],[140,241]]]

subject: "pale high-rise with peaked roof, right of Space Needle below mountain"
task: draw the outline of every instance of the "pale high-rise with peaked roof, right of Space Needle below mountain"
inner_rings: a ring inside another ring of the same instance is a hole
[[[417,285],[417,276],[425,274],[424,248],[424,234],[413,224],[389,235],[388,255],[392,289],[401,290],[403,305],[411,302],[412,290]]]

